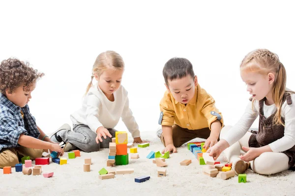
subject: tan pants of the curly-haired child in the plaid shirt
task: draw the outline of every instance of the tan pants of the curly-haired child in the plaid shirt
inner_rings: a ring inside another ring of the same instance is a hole
[[[19,158],[29,156],[31,160],[42,157],[43,149],[34,149],[28,147],[16,147],[2,149],[0,151],[0,168],[5,166],[15,167],[19,163]]]

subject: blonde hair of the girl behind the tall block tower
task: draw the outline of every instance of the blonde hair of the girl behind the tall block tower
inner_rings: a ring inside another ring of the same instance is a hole
[[[88,93],[90,87],[92,86],[92,80],[95,74],[97,74],[97,76],[99,77],[104,71],[107,71],[109,69],[124,70],[124,61],[122,57],[117,52],[112,50],[102,52],[96,57],[92,67],[91,81],[87,86],[85,95]]]

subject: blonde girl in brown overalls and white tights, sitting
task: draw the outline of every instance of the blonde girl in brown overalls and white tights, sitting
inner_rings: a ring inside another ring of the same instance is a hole
[[[257,49],[245,56],[240,74],[252,95],[251,102],[235,126],[221,130],[221,140],[208,149],[209,155],[216,160],[225,150],[236,174],[244,173],[250,164],[260,174],[294,168],[295,94],[286,90],[283,64],[276,54]],[[258,132],[248,131],[258,116]],[[246,152],[242,156],[241,148]]]

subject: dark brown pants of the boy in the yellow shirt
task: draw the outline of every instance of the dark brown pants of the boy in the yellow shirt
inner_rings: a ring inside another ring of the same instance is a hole
[[[172,139],[175,147],[180,147],[184,143],[195,138],[207,139],[211,133],[209,127],[197,130],[189,130],[187,128],[182,128],[175,124],[172,126],[172,128]],[[166,147],[163,133],[161,135],[161,141],[163,145]]]

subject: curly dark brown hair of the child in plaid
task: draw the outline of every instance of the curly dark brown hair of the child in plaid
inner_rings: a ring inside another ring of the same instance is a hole
[[[24,91],[30,91],[29,86],[32,82],[41,78],[44,73],[38,73],[30,67],[29,62],[20,61],[17,58],[3,60],[0,64],[0,92],[6,94],[23,86]]]

